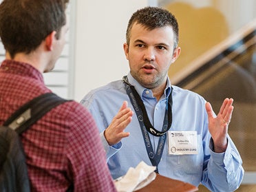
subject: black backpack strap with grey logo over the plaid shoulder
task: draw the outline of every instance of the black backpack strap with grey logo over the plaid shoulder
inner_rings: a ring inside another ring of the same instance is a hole
[[[66,101],[54,93],[42,94],[21,106],[3,125],[21,134],[52,108]]]

